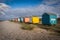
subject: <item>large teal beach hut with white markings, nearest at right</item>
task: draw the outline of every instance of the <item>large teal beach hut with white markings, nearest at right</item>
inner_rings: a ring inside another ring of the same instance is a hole
[[[57,15],[53,13],[44,13],[42,15],[42,24],[57,24]]]

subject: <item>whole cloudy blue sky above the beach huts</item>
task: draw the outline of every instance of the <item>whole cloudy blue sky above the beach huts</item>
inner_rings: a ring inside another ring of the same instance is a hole
[[[60,15],[60,0],[0,0],[0,20],[21,16]]]

